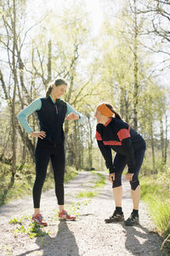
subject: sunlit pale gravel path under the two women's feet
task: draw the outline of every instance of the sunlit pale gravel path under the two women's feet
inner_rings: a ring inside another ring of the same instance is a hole
[[[105,172],[100,172],[105,177]],[[0,255],[14,256],[167,256],[160,250],[162,239],[156,234],[147,207],[140,203],[140,225],[105,224],[104,219],[114,210],[111,183],[95,189],[99,177],[91,172],[80,172],[65,184],[65,208],[77,214],[75,222],[59,222],[54,189],[42,193],[42,214],[48,227],[45,236],[31,237],[30,197],[0,207]],[[94,198],[78,197],[91,191]],[[122,207],[125,218],[132,210],[129,183],[123,179]],[[20,224],[9,220],[20,218]],[[27,219],[28,218],[28,219]]]

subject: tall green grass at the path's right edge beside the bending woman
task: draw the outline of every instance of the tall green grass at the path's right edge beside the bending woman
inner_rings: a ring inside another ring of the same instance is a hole
[[[157,231],[166,238],[170,234],[170,189],[168,177],[160,175],[140,178],[141,199],[148,205]]]

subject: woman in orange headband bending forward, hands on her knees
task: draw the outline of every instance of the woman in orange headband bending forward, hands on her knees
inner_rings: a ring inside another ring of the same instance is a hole
[[[126,178],[131,185],[133,212],[125,221],[125,225],[139,224],[139,170],[144,160],[146,145],[144,138],[125,123],[120,115],[108,103],[99,104],[96,109],[96,139],[99,149],[109,169],[109,180],[112,183],[116,210],[106,223],[124,220],[122,212],[122,172],[127,165]],[[112,162],[111,149],[116,152]]]

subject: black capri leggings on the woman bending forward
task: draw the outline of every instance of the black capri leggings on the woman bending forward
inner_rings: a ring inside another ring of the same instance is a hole
[[[134,152],[135,166],[133,169],[133,180],[130,182],[131,189],[135,190],[139,186],[139,170],[144,160],[145,149],[140,149]],[[113,160],[113,166],[115,170],[115,180],[113,182],[113,188],[122,186],[122,172],[127,165],[126,156],[123,154],[117,154]]]

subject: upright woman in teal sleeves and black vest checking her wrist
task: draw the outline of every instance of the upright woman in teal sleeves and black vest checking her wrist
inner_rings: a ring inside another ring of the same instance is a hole
[[[51,160],[54,170],[55,194],[59,204],[59,219],[76,219],[76,217],[71,217],[64,208],[65,136],[63,123],[65,119],[80,119],[81,115],[71,108],[67,102],[59,99],[65,94],[66,89],[67,83],[64,79],[55,80],[54,83],[48,85],[46,97],[31,102],[17,117],[20,125],[25,128],[28,134],[31,137],[37,137],[35,151],[36,180],[33,186],[34,214],[32,215],[32,220],[44,226],[48,224],[42,221],[40,199],[49,160]],[[32,131],[26,120],[35,111],[39,119],[40,131]]]

